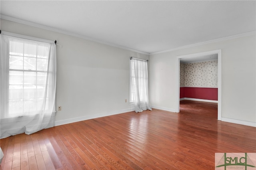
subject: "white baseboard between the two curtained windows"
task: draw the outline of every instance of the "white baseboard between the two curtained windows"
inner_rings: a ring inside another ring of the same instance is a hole
[[[88,116],[83,116],[83,117],[75,117],[75,118],[71,118],[71,119],[65,119],[65,120],[61,120],[61,121],[55,121],[55,126],[60,126],[60,125],[65,125],[68,123],[75,123],[75,122],[80,122],[80,121],[86,121],[89,119],[95,119],[95,118],[99,118],[99,117],[105,117],[105,116],[111,116],[111,115],[117,115],[117,114],[121,114],[121,113],[126,113],[126,112],[131,112],[134,111],[134,108],[131,109],[122,109],[119,111],[112,111],[110,113],[100,113],[97,115],[88,115]]]

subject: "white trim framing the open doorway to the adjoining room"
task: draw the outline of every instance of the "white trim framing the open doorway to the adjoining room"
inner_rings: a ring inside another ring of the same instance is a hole
[[[201,53],[192,53],[187,55],[179,55],[176,59],[176,112],[180,112],[180,59],[188,57],[198,57],[205,55],[218,54],[218,120],[222,119],[222,49],[216,49],[212,51],[205,51]]]

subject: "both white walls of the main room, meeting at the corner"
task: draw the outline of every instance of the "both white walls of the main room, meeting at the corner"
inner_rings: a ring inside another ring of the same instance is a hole
[[[149,56],[81,38],[1,19],[0,29],[57,40],[56,125],[132,110],[129,97],[129,57]],[[150,55],[150,104],[175,111],[176,56],[222,49],[222,117],[255,123],[256,40],[247,36]],[[235,121],[233,121],[235,122]]]

